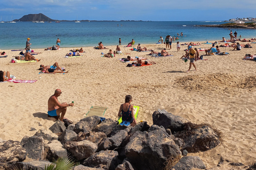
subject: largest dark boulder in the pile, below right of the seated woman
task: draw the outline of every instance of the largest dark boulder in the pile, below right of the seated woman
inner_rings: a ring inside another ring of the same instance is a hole
[[[181,156],[181,151],[163,128],[135,132],[125,146],[125,156],[137,169],[162,169],[167,157]]]

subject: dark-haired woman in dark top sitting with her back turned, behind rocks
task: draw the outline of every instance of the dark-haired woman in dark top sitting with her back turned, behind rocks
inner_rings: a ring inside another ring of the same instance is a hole
[[[125,96],[125,103],[122,104],[119,108],[118,115],[122,117],[121,126],[130,126],[131,123],[136,124],[135,116],[133,113],[133,106],[131,105],[132,96]]]

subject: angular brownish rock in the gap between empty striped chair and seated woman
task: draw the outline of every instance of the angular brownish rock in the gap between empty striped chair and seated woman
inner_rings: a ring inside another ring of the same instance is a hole
[[[104,132],[108,136],[117,124],[118,124],[118,121],[114,121],[114,120],[111,120],[110,118],[106,118],[105,121],[98,124],[92,131]]]

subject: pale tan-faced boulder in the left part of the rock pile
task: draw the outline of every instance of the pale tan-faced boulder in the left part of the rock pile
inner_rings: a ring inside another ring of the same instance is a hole
[[[58,158],[66,158],[67,150],[63,147],[63,145],[58,140],[53,140],[47,143],[45,146],[46,159],[57,160]]]

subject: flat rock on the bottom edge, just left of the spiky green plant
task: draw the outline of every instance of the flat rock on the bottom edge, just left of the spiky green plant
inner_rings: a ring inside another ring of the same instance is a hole
[[[34,160],[31,162],[19,162],[16,164],[12,164],[8,169],[37,169],[37,170],[45,170],[45,166],[51,165],[51,162],[44,160]]]

